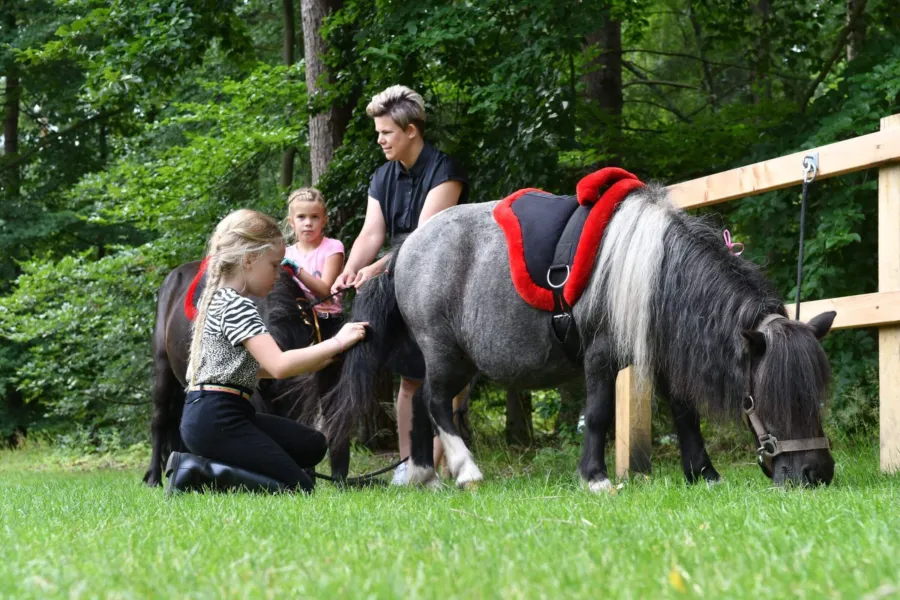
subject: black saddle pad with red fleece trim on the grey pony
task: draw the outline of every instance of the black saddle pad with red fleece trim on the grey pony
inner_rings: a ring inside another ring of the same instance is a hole
[[[579,181],[577,196],[528,188],[501,200],[494,218],[506,236],[513,284],[522,299],[553,311],[556,289],[574,306],[591,278],[613,212],[643,185],[628,171],[607,167]]]

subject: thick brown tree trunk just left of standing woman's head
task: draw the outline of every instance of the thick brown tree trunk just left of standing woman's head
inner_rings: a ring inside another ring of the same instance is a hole
[[[325,65],[325,41],[320,35],[322,20],[337,10],[341,0],[301,0],[303,13],[303,48],[306,57],[306,89],[310,103],[315,105],[317,96],[322,93],[322,84],[327,82],[329,73]],[[328,169],[328,163],[344,138],[344,131],[349,121],[346,107],[332,106],[325,112],[310,114],[309,117],[309,158],[312,165],[312,183],[316,185],[319,178]]]

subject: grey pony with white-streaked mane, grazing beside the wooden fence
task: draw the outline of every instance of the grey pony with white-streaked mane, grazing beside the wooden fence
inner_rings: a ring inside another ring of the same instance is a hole
[[[372,402],[376,369],[412,336],[425,356],[413,400],[410,481],[437,483],[433,427],[459,486],[482,474],[453,425],[451,399],[476,372],[519,389],[586,391],[579,472],[592,491],[609,488],[604,447],[615,415],[615,378],[633,365],[668,401],[689,482],[719,479],[700,433],[699,410],[741,415],[753,391],[757,417],[778,440],[822,438],[820,405],[830,381],[819,339],[834,313],[789,320],[778,293],[720,233],[675,208],[662,187],[636,190],[606,228],[587,288],[573,309],[582,364],[551,340],[548,313],[513,287],[495,202],[448,209],[395,252],[389,274],[363,287],[354,320],[367,341],[351,349],[326,402],[332,435]],[[584,387],[582,387],[584,386]],[[775,453],[763,467],[776,484],[829,483],[827,448]]]

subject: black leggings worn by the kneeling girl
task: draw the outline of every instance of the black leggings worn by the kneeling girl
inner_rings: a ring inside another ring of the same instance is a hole
[[[181,438],[194,454],[277,479],[311,492],[310,469],[325,458],[325,436],[306,425],[259,414],[242,397],[190,392],[181,417]]]

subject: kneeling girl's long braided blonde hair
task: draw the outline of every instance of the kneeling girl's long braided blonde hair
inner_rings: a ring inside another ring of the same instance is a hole
[[[222,279],[243,269],[245,260],[256,260],[269,250],[284,245],[278,222],[255,210],[236,210],[216,225],[206,247],[206,287],[197,303],[197,318],[191,328],[191,355],[188,360],[188,381],[194,385],[200,370],[203,325],[213,294]]]

